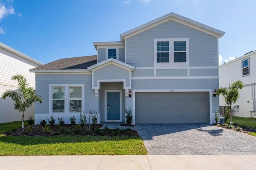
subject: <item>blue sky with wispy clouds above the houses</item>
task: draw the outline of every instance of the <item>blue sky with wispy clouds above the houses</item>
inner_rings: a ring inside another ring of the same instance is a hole
[[[220,63],[256,50],[256,0],[0,0],[0,42],[44,64],[174,12],[225,32]],[[221,59],[222,58],[222,59]]]

